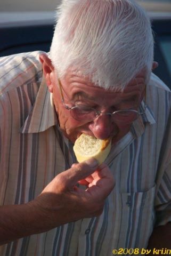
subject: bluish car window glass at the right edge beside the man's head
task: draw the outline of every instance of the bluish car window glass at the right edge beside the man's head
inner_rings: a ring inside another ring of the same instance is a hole
[[[169,74],[171,76],[171,35],[160,36],[159,38],[160,49],[164,55]]]

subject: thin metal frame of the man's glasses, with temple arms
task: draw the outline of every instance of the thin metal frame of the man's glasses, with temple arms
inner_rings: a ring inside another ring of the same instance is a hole
[[[68,106],[66,105],[66,103],[64,103],[64,97],[63,97],[63,92],[62,92],[62,84],[61,84],[61,81],[60,81],[59,78],[58,78],[58,83],[59,83],[59,91],[60,91],[60,95],[61,95],[61,101],[62,101],[62,104],[63,104],[64,108],[66,108],[67,110],[72,110],[72,109],[75,109],[75,108],[79,108],[78,106],[68,107]],[[86,106],[85,106],[85,107],[86,107]],[[103,113],[103,112],[101,112],[101,111],[99,111],[99,110],[96,110],[96,109],[94,109],[94,108],[91,108],[91,107],[89,107],[89,108],[92,109],[92,110],[96,113],[96,116],[94,117],[94,119],[97,118],[97,116],[99,116],[99,115],[110,115],[110,116],[113,116],[113,115],[115,115],[116,113],[120,113],[120,112],[127,111],[127,110],[136,113],[136,114],[137,114],[137,118],[138,118],[138,116],[144,115],[145,110],[146,110],[146,86],[145,86],[145,104],[144,104],[144,111],[143,111],[143,112],[139,112],[139,111],[137,111],[137,110],[135,110],[135,109],[122,109],[122,110],[113,111],[113,113]],[[72,116],[72,117],[73,117],[73,116]],[[73,117],[73,118],[76,119],[75,117]],[[137,119],[137,118],[136,118],[136,119]],[[94,119],[87,120],[86,122],[93,121]],[[135,119],[135,120],[136,120],[136,119]],[[79,119],[76,119],[76,120],[77,120],[77,121],[81,121],[81,120],[79,120]],[[135,120],[134,120],[134,121],[135,121]],[[134,122],[134,121],[133,121],[133,122]],[[130,123],[133,123],[133,122],[130,122]],[[118,122],[118,123],[119,123],[119,122]],[[129,123],[127,123],[127,124],[129,124]]]

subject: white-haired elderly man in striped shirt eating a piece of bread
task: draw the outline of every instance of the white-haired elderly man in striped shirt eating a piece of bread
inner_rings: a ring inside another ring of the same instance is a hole
[[[50,54],[1,59],[1,256],[169,249],[171,101],[155,66],[133,0],[63,0]],[[105,163],[76,164],[82,133],[112,137]]]

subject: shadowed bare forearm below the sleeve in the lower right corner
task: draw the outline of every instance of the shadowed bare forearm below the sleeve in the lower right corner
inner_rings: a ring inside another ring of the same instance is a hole
[[[171,249],[170,238],[171,238],[171,222],[167,223],[165,226],[158,226],[154,228],[153,233],[149,239],[148,248],[149,249],[153,249],[153,248]]]

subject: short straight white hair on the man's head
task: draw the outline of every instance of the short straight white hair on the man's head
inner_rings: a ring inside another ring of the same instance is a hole
[[[50,58],[59,78],[68,68],[105,89],[123,90],[143,68],[150,77],[150,20],[134,0],[63,0]]]

